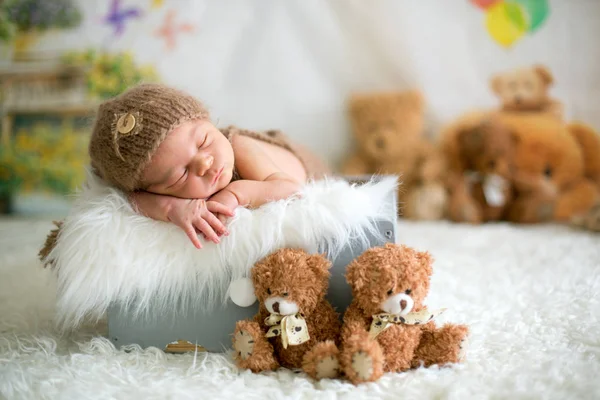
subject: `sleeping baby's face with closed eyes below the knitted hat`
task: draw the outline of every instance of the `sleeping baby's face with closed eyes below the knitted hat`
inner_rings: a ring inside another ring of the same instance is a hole
[[[143,172],[146,190],[186,199],[206,199],[233,176],[233,149],[209,121],[194,120],[171,131]]]

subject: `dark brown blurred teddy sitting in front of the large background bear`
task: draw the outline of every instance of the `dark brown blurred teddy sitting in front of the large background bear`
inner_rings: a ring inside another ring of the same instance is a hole
[[[490,116],[457,131],[448,173],[448,217],[456,222],[498,221],[512,200],[515,136]]]

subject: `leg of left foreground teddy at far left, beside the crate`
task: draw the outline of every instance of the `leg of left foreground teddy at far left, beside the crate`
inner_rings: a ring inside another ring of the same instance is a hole
[[[239,321],[236,324],[233,348],[236,365],[240,368],[261,372],[279,367],[273,346],[255,321]]]

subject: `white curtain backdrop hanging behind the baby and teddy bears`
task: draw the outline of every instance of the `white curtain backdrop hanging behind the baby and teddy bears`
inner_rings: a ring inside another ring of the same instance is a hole
[[[129,50],[202,99],[220,125],[283,129],[333,164],[353,146],[349,93],[420,88],[435,135],[460,113],[497,104],[493,73],[532,63],[554,73],[552,94],[569,118],[600,129],[598,0],[550,0],[544,25],[510,49],[468,0],[122,0],[143,15],[119,37],[100,22],[110,3],[80,0],[83,25],[40,46]],[[173,51],[155,35],[169,10],[195,26]]]

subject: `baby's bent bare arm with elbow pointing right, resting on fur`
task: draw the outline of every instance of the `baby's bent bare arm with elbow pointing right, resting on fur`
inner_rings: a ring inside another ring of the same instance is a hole
[[[239,205],[259,207],[269,201],[281,200],[297,193],[298,182],[281,171],[253,139],[235,136],[236,167],[242,180],[227,185],[210,199],[235,208]]]

